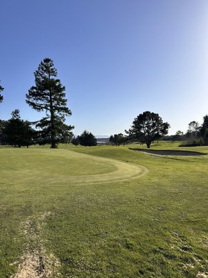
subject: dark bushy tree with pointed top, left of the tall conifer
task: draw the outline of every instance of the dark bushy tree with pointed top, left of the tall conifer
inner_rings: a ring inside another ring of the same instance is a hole
[[[3,127],[3,140],[6,145],[12,146],[29,146],[33,144],[33,135],[35,131],[31,128],[31,124],[21,120],[19,109],[12,111],[12,117]]]

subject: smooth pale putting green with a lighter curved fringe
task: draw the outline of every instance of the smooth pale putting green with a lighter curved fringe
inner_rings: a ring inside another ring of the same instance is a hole
[[[64,149],[1,149],[1,183],[75,185],[135,179],[141,165]]]

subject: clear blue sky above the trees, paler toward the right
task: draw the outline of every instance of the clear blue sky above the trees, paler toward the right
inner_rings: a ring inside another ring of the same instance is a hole
[[[144,111],[174,134],[208,113],[207,0],[0,0],[0,28],[1,120],[42,117],[25,94],[45,57],[76,135],[124,133]]]

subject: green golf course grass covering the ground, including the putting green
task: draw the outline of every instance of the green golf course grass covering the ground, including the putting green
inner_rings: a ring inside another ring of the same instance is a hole
[[[152,148],[171,149],[158,144]],[[208,152],[207,147],[191,149]],[[44,246],[60,262],[55,277],[205,275],[207,156],[151,156],[128,147],[67,145],[55,150],[6,148],[0,155],[0,277],[17,272],[22,254],[28,246],[33,251],[32,245]],[[140,168],[135,165],[149,172],[138,178],[130,173],[122,180],[131,167],[137,176]],[[116,179],[107,179],[118,167],[122,170]],[[41,215],[46,216],[40,220]],[[37,243],[24,233],[28,219]]]

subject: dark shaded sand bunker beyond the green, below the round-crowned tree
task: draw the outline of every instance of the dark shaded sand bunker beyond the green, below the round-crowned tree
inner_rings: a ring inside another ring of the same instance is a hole
[[[132,148],[130,148],[132,149]],[[148,154],[159,154],[160,156],[204,156],[201,152],[177,151],[170,149],[132,149],[136,152],[146,152]]]

